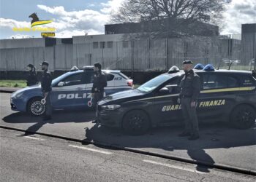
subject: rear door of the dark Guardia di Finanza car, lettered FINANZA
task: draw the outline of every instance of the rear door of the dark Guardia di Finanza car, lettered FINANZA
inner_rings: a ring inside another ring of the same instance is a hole
[[[199,119],[222,119],[236,103],[233,90],[239,85],[238,78],[219,72],[205,72],[200,76],[202,90],[197,103]]]

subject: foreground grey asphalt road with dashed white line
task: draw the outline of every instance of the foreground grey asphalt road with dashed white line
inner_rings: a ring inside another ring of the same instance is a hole
[[[23,134],[0,129],[0,181],[256,180],[251,175]]]

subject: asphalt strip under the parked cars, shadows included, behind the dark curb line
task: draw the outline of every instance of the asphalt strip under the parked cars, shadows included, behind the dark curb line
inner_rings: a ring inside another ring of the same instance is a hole
[[[10,94],[7,93],[0,93],[0,115],[1,126],[256,171],[256,127],[236,130],[227,124],[200,124],[200,139],[197,141],[179,138],[180,126],[162,127],[146,135],[129,136],[120,130],[95,126],[91,123],[95,117],[91,111],[55,111],[50,122],[42,122],[41,118],[11,111]]]

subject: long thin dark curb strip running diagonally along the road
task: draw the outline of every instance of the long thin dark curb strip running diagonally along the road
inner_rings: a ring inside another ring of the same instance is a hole
[[[216,169],[219,169],[219,170],[227,170],[227,171],[230,171],[230,172],[256,176],[256,171],[255,170],[246,170],[246,169],[240,168],[240,167],[232,167],[232,166],[229,166],[229,165],[211,164],[209,162],[203,162],[203,161],[200,161],[200,160],[187,159],[187,158],[183,158],[183,157],[175,157],[175,156],[171,156],[171,155],[167,155],[167,154],[158,154],[156,152],[145,151],[145,150],[141,150],[141,149],[133,149],[133,148],[125,147],[125,146],[118,146],[116,144],[101,143],[101,142],[98,142],[98,141],[88,141],[86,139],[85,140],[80,140],[80,139],[77,139],[77,138],[69,138],[69,137],[64,137],[64,136],[60,136],[60,135],[48,134],[48,133],[45,133],[45,132],[31,132],[31,131],[26,131],[26,130],[15,128],[15,127],[6,127],[6,126],[1,126],[0,125],[0,128],[7,129],[7,130],[16,130],[16,131],[20,131],[20,132],[27,132],[27,133],[30,133],[30,134],[45,135],[45,136],[48,136],[48,137],[60,138],[60,139],[64,139],[64,140],[67,140],[67,141],[75,141],[75,142],[79,142],[79,143],[93,144],[94,146],[102,146],[102,147],[106,147],[106,148],[109,148],[109,149],[119,149],[119,150],[123,150],[123,151],[130,151],[130,152],[137,153],[137,154],[144,154],[144,155],[160,157],[160,158],[164,158],[164,159],[171,159],[171,160],[175,160],[175,161],[178,161],[178,162],[187,162],[187,163],[193,164],[193,165],[202,165],[202,166],[206,166],[206,167],[216,168]]]

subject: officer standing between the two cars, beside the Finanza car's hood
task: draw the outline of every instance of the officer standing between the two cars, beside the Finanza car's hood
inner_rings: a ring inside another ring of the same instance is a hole
[[[107,79],[102,74],[102,66],[100,63],[94,64],[94,81],[91,88],[91,94],[93,97],[93,106],[97,106],[97,102],[102,100],[104,96],[104,87],[107,87]]]

